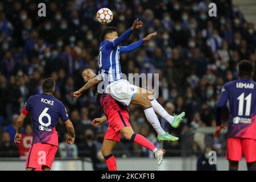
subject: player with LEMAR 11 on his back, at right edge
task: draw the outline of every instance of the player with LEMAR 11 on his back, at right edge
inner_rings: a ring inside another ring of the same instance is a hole
[[[229,124],[226,141],[226,159],[229,170],[237,171],[238,162],[245,156],[247,169],[256,170],[256,82],[254,65],[242,60],[238,63],[238,80],[227,82],[222,90],[216,107],[217,129],[220,134],[222,107],[229,101]]]

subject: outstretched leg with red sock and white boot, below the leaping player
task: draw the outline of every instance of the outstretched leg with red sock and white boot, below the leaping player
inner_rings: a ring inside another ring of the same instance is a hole
[[[160,164],[162,164],[163,155],[165,152],[163,149],[157,148],[156,146],[154,146],[154,144],[152,144],[150,141],[148,141],[142,135],[135,134],[131,127],[123,127],[120,130],[120,132],[123,135],[123,137],[125,137],[125,139],[131,140],[135,143],[138,143],[139,145],[146,147],[148,150],[153,152],[155,154],[158,166],[160,166]]]

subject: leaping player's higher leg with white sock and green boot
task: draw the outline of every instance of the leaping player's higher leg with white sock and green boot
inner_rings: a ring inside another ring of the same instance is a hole
[[[146,97],[148,100],[150,100],[151,105],[155,111],[156,114],[159,114],[162,118],[166,119],[168,123],[172,127],[178,127],[180,122],[185,116],[185,112],[180,113],[179,115],[170,115],[167,113],[167,111],[156,101],[154,98],[154,94],[148,90],[145,90],[143,88],[138,88],[139,93],[142,93],[144,97]]]

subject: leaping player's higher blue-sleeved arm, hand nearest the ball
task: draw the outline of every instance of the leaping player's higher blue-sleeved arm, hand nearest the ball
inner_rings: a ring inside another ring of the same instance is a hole
[[[125,40],[127,40],[131,36],[131,34],[135,29],[141,28],[142,24],[143,24],[142,21],[137,18],[136,20],[134,20],[133,26],[131,26],[131,28],[129,28],[128,30],[123,32],[121,36],[119,36],[114,40],[111,40],[110,42],[113,43],[114,47],[117,47],[119,44],[125,42]]]

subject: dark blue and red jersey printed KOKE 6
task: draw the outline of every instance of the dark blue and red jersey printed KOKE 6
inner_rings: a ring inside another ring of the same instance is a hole
[[[33,125],[34,143],[48,143],[58,146],[58,135],[55,129],[59,118],[67,121],[68,114],[63,103],[52,95],[38,94],[28,98],[22,114],[30,113]]]

